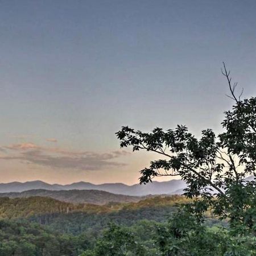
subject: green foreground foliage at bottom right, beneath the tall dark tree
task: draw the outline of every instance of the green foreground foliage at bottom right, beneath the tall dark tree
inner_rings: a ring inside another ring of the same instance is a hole
[[[177,213],[168,224],[145,222],[136,227],[110,224],[93,249],[82,256],[253,256],[254,236],[232,236],[220,227],[198,225],[188,213]]]

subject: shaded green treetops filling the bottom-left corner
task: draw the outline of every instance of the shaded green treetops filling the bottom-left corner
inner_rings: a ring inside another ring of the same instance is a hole
[[[92,242],[85,235],[60,235],[27,221],[0,220],[1,256],[78,256]]]

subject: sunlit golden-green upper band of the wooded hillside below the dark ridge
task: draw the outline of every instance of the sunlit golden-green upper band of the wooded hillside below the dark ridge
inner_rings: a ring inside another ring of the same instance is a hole
[[[0,218],[28,218],[31,216],[71,216],[71,214],[81,213],[96,216],[97,214],[104,215],[107,213],[118,213],[121,211],[137,212],[138,210],[158,208],[162,212],[163,208],[174,208],[176,204],[185,203],[188,200],[184,196],[156,196],[148,197],[147,199],[131,202],[118,203],[110,202],[105,205],[96,204],[76,204],[66,203],[55,200],[50,197],[20,197],[9,198],[0,197]],[[160,215],[159,217],[161,217]],[[145,217],[147,218],[147,216]]]

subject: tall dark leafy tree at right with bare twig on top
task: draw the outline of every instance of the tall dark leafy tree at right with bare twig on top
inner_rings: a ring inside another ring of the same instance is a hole
[[[218,218],[229,220],[236,234],[256,233],[256,182],[246,180],[255,175],[256,166],[256,97],[241,100],[236,96],[237,83],[231,83],[225,64],[222,71],[228,81],[231,110],[221,123],[224,133],[203,130],[201,138],[189,133],[186,126],[164,131],[156,127],[151,133],[123,126],[116,133],[120,146],[133,151],[155,152],[153,160],[141,171],[140,183],[154,177],[179,176],[187,183],[185,196],[195,199],[186,205],[197,223],[211,210]]]

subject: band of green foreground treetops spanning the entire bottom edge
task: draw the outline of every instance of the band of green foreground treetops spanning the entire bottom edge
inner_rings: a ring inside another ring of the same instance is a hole
[[[198,225],[187,212],[177,212],[164,223],[111,223],[100,236],[57,234],[40,225],[7,220],[0,221],[0,230],[0,256],[256,255],[255,237]]]

